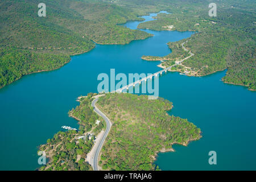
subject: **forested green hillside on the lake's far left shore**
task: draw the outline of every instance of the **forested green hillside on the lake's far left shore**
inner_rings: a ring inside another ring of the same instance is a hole
[[[0,2],[0,88],[28,73],[63,66],[70,55],[93,49],[93,41],[127,44],[151,36],[118,26],[141,19],[132,10],[113,3],[46,0],[46,17],[39,17],[40,2]]]

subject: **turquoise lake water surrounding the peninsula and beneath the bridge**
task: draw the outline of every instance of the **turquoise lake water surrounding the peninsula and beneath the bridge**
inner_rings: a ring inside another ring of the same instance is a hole
[[[152,20],[152,16],[143,16]],[[140,22],[123,26],[135,29]],[[154,73],[158,61],[142,55],[170,53],[167,42],[188,38],[193,32],[151,31],[155,36],[127,45],[96,45],[55,71],[24,76],[0,89],[1,170],[34,170],[39,167],[37,147],[53,137],[61,126],[78,128],[68,111],[76,98],[97,92],[100,73]],[[195,123],[203,138],[175,152],[160,153],[156,164],[163,170],[256,169],[256,92],[243,86],[224,84],[225,71],[205,77],[179,73],[159,78],[159,96],[174,103],[170,114]],[[217,152],[217,165],[210,166],[208,152]]]

